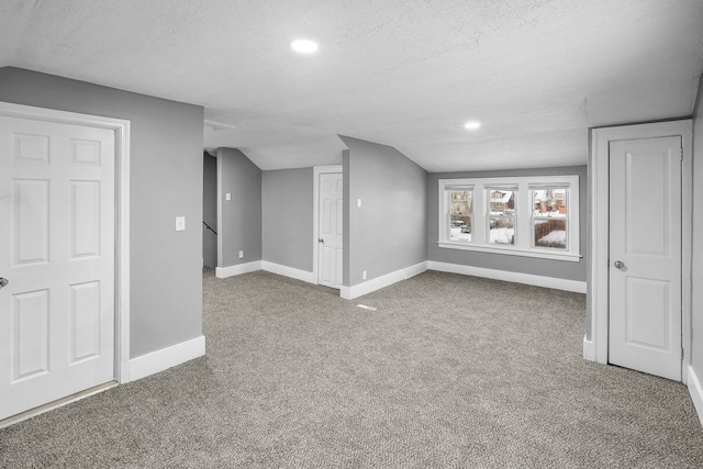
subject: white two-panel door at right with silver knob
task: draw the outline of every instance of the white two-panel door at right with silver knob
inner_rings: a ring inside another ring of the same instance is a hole
[[[610,144],[610,362],[681,380],[681,137]]]

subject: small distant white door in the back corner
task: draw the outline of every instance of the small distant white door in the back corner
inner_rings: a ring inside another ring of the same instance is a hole
[[[342,174],[320,175],[317,272],[319,282],[332,288],[342,287],[342,219],[344,214],[342,189]]]

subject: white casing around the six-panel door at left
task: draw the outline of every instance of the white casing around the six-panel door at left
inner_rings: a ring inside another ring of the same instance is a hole
[[[115,134],[115,380],[130,381],[130,121],[0,101],[0,115],[108,129]]]

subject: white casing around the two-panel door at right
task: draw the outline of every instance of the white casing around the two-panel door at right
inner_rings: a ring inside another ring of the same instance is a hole
[[[681,345],[682,381],[691,362],[691,254],[693,152],[691,120],[592,129],[589,156],[589,263],[587,310],[590,327],[583,339],[583,358],[607,364],[609,358],[609,220],[610,143],[624,139],[681,136]]]

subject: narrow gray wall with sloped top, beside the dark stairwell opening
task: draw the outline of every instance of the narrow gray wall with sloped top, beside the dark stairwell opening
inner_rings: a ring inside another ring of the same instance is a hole
[[[238,149],[217,148],[217,267],[261,260],[261,170]]]

